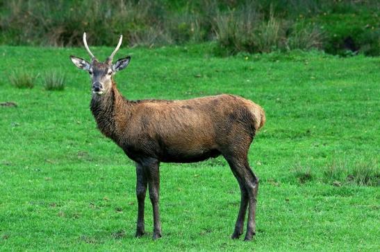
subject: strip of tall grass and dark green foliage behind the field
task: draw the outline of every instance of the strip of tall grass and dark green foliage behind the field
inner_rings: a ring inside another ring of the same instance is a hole
[[[10,0],[0,2],[0,43],[130,46],[215,41],[218,55],[320,48],[380,55],[376,0]],[[268,22],[277,27],[271,31]],[[227,24],[227,25],[225,25]],[[308,42],[308,44],[305,44]]]

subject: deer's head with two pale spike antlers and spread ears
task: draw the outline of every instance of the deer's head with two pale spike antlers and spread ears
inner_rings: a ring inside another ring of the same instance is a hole
[[[101,94],[108,92],[112,87],[112,76],[117,71],[125,69],[131,60],[131,57],[127,56],[117,60],[115,64],[112,63],[113,56],[115,56],[115,53],[122,45],[122,39],[123,36],[120,35],[119,43],[110,57],[108,57],[105,62],[99,62],[99,60],[97,60],[97,58],[91,53],[90,48],[88,48],[85,33],[83,33],[83,44],[85,44],[85,48],[91,56],[91,62],[87,62],[80,57],[70,56],[70,60],[72,60],[74,65],[79,69],[88,71],[90,74],[92,93],[95,95],[100,96]]]

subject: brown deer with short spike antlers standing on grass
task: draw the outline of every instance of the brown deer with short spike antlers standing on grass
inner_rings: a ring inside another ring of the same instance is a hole
[[[129,65],[130,56],[113,64],[122,35],[109,57],[100,62],[92,54],[83,33],[90,62],[71,55],[79,69],[88,71],[92,98],[90,110],[104,136],[122,148],[135,162],[138,217],[135,237],[144,235],[144,201],[149,189],[153,208],[153,240],[162,236],[159,191],[160,163],[192,163],[222,155],[240,186],[240,208],[232,239],[256,234],[258,177],[248,162],[249,147],[265,124],[265,112],[251,100],[231,94],[189,100],[128,100],[117,89],[114,75]]]

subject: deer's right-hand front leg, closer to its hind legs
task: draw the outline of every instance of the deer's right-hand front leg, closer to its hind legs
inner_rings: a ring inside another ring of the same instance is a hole
[[[161,222],[160,212],[158,209],[158,201],[160,195],[160,163],[157,160],[149,161],[149,165],[144,165],[145,172],[147,173],[149,185],[149,198],[153,207],[153,239],[156,240],[161,237]]]

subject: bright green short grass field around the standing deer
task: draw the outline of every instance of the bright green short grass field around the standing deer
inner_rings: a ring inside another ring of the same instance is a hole
[[[112,48],[94,48],[99,58]],[[133,237],[135,168],[90,114],[84,48],[0,46],[0,251],[379,251],[380,59],[291,52],[213,57],[210,45],[122,48],[129,99],[233,93],[267,123],[249,161],[261,186],[257,235],[231,240],[240,190],[221,159],[160,168],[163,238]],[[101,57],[103,56],[103,57]],[[12,87],[15,69],[38,75]],[[64,91],[41,76],[67,73]],[[364,178],[364,179],[363,179]]]

